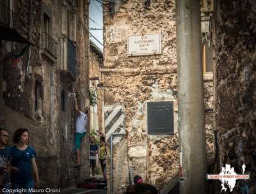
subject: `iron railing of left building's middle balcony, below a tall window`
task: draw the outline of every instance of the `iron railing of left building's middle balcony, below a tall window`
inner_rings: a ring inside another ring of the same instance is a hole
[[[57,56],[58,43],[48,33],[42,33],[42,48],[50,52],[53,56]]]

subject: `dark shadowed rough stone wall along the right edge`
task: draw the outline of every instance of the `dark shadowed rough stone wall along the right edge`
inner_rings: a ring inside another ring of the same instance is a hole
[[[214,106],[220,168],[230,164],[241,174],[244,163],[250,180],[237,181],[233,193],[241,193],[246,185],[255,193],[256,2],[217,1],[216,8]]]

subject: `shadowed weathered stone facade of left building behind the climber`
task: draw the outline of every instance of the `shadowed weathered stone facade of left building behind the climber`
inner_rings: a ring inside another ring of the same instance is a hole
[[[90,175],[88,135],[82,146],[83,167],[80,172],[73,168],[76,112],[70,97],[76,93],[79,105],[88,105],[88,4],[82,0],[13,2],[13,29],[33,46],[18,59],[0,64],[0,80],[6,83],[0,96],[0,125],[11,135],[19,127],[28,128],[41,186],[66,188]],[[24,47],[1,40],[0,61]]]

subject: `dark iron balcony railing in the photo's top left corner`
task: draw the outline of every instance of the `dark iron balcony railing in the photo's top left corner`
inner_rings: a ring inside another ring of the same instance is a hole
[[[9,6],[3,3],[5,1],[0,1],[0,25],[12,27],[12,15],[13,11],[10,10]]]

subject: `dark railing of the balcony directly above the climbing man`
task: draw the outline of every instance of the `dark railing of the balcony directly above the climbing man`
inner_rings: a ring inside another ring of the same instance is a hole
[[[76,78],[76,67],[77,67],[77,59],[76,59],[76,47],[67,38],[67,46],[68,46],[68,71],[72,73],[73,77]]]

